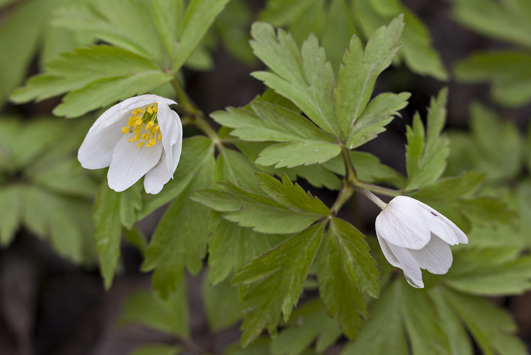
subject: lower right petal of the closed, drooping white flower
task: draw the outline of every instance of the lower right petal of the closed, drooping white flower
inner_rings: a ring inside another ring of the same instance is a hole
[[[421,250],[409,250],[423,269],[432,274],[446,274],[452,266],[452,251],[450,246],[442,239],[432,235],[432,239]]]

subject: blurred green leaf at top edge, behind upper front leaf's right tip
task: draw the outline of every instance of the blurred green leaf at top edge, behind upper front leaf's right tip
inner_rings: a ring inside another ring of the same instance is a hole
[[[421,75],[430,75],[438,80],[448,80],[441,56],[432,46],[432,38],[426,25],[398,0],[355,0],[354,13],[361,24],[365,37],[392,18],[404,14],[404,33],[400,38],[404,47],[398,52],[410,70]]]

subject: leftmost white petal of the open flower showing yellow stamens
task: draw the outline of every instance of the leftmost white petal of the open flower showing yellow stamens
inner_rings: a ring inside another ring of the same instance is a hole
[[[91,128],[78,150],[78,160],[81,166],[87,169],[109,166],[114,146],[123,136],[123,126],[123,122],[116,121],[102,129]]]

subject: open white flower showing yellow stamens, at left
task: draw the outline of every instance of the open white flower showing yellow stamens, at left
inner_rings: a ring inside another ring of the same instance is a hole
[[[109,167],[109,187],[123,191],[142,176],[148,193],[159,193],[181,157],[183,126],[157,95],[131,97],[105,111],[81,143],[78,160],[84,168]]]

